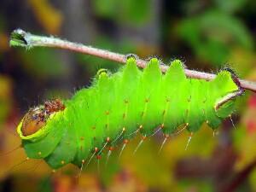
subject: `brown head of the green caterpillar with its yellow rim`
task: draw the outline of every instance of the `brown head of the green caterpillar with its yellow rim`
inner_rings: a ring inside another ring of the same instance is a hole
[[[31,108],[20,121],[17,132],[22,139],[41,137],[48,119],[65,109],[60,99],[44,102],[43,106]]]

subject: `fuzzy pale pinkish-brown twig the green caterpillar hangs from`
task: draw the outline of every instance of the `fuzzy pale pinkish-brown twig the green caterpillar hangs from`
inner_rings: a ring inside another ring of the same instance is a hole
[[[77,44],[73,42],[69,42],[67,40],[62,40],[60,38],[55,37],[44,37],[33,35],[30,32],[25,32],[21,29],[16,29],[14,32],[11,33],[11,38],[9,41],[10,46],[20,46],[25,47],[26,49],[31,49],[33,47],[54,47],[54,48],[61,48],[61,49],[68,49],[73,50],[75,52],[87,54],[87,55],[95,55],[97,57],[101,57],[103,59],[107,59],[110,61],[117,61],[119,63],[126,62],[126,55],[121,55],[118,53],[114,53],[104,49],[96,49],[84,44]],[[146,67],[146,61],[142,59],[137,59],[137,66],[138,67]],[[166,72],[168,68],[165,65],[160,66],[161,71],[163,73]],[[193,79],[206,79],[211,80],[214,79],[216,76],[212,73],[203,73],[198,72],[195,70],[185,69],[185,73],[187,77]],[[256,92],[256,83],[252,81],[247,81],[243,79],[239,79],[241,87],[245,90],[252,90]]]

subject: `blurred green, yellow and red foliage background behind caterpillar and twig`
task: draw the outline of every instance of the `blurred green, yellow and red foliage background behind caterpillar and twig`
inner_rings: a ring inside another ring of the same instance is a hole
[[[132,155],[100,170],[96,160],[76,178],[67,166],[51,172],[43,160],[25,160],[15,126],[28,108],[49,98],[68,98],[89,85],[101,67],[119,64],[59,49],[9,48],[22,28],[141,58],[181,59],[191,69],[217,73],[230,67],[256,80],[254,0],[1,0],[0,2],[0,191],[256,191],[256,95],[247,92],[236,113],[213,137],[203,126],[172,137],[158,154],[159,134]],[[202,90],[203,91],[203,90]],[[13,150],[14,149],[14,150]],[[8,153],[9,152],[9,153]]]

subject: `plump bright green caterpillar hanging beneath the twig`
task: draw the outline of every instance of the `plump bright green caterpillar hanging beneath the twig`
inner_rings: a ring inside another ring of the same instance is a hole
[[[162,74],[158,59],[141,71],[130,56],[118,73],[101,70],[90,88],[70,100],[32,108],[17,131],[29,158],[44,159],[54,169],[69,163],[82,166],[137,132],[144,139],[160,128],[168,137],[181,125],[194,133],[204,122],[215,130],[242,93],[230,70],[212,81],[188,79],[182,61],[172,61]]]

